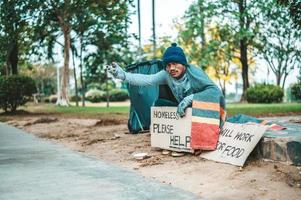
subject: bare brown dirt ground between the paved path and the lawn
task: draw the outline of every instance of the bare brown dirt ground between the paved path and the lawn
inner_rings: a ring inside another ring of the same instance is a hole
[[[252,157],[244,167],[237,167],[190,154],[183,157],[162,155],[161,150],[151,148],[149,132],[128,133],[128,108],[114,106],[108,113],[98,113],[95,110],[105,108],[93,107],[90,114],[87,114],[88,108],[85,112],[75,109],[72,112],[60,112],[60,109],[46,112],[43,106],[41,112],[38,106],[30,106],[17,115],[1,114],[0,120],[37,137],[192,192],[204,199],[276,200],[299,199],[301,196],[300,167]],[[55,109],[50,107],[49,110]],[[285,114],[292,113],[284,111],[268,116]],[[293,114],[301,120],[299,112]],[[149,157],[143,160],[133,158],[133,154],[141,152],[148,153]]]

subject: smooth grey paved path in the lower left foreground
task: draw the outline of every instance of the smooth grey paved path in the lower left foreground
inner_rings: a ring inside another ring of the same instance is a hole
[[[0,123],[0,200],[198,199]]]

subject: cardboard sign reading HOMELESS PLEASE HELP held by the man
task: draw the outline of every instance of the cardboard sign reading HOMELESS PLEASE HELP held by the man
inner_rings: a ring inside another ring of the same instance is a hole
[[[180,118],[177,107],[151,108],[151,146],[172,151],[193,152],[190,148],[191,108]]]

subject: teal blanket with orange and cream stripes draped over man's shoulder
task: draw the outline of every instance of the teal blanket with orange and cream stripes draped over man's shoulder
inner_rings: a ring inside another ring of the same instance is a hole
[[[226,120],[224,96],[202,69],[189,65],[186,73],[194,93],[191,148],[215,150]]]

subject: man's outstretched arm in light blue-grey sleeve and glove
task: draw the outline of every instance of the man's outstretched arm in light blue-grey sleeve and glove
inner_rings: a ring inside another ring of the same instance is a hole
[[[136,86],[152,86],[166,83],[166,71],[162,70],[156,74],[133,74],[125,72],[117,63],[107,66],[108,71],[118,79]]]

